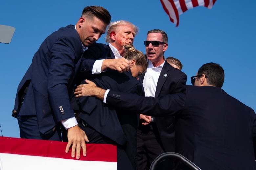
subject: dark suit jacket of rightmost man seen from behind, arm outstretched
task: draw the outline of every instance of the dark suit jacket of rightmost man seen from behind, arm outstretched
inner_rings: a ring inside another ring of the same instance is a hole
[[[188,85],[187,95],[158,98],[110,91],[107,104],[154,116],[175,115],[176,152],[201,169],[256,169],[255,112],[218,87]]]

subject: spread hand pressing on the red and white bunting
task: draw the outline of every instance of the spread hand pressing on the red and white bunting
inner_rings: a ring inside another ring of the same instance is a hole
[[[70,147],[72,146],[71,157],[75,157],[76,151],[76,159],[79,159],[82,146],[83,156],[86,156],[85,142],[89,142],[85,132],[82,129],[80,129],[78,125],[75,125],[68,129],[68,144],[66,146],[65,152],[68,153]]]

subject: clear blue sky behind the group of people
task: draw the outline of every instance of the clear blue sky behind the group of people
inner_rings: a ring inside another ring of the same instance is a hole
[[[19,137],[11,116],[18,84],[43,40],[60,27],[75,25],[85,6],[109,10],[112,21],[127,20],[139,27],[134,46],[145,52],[147,31],[168,34],[165,57],[178,58],[190,77],[208,62],[225,71],[223,89],[256,110],[256,1],[217,0],[212,9],[196,7],[180,15],[178,27],[170,22],[160,0],[12,1],[0,2],[0,24],[16,28],[10,44],[0,43],[0,124],[3,136]],[[98,42],[105,43],[103,35]],[[203,95],[203,94],[198,94]],[[167,102],[167,101],[166,101]],[[218,106],[216,106],[218,107]]]

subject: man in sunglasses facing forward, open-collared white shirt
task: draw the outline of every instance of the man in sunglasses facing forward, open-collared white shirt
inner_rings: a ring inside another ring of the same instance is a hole
[[[148,31],[144,41],[148,68],[140,76],[146,96],[159,97],[184,90],[186,75],[169,65],[164,57],[168,49],[167,34],[159,29]],[[152,119],[153,118],[153,119]],[[138,169],[149,169],[161,153],[174,152],[173,117],[151,117],[141,114],[137,131]],[[163,165],[163,169],[171,165]]]

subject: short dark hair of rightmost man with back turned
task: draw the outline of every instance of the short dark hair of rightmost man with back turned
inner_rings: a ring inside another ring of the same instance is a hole
[[[213,62],[203,64],[198,70],[198,75],[200,74],[205,74],[208,77],[209,85],[221,88],[224,83],[224,70],[219,64]]]

